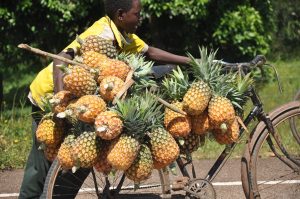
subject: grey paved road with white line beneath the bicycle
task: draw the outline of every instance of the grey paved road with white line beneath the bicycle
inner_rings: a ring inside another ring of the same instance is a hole
[[[272,158],[261,160],[264,167],[268,165],[276,164]],[[214,161],[201,160],[195,162],[195,167],[199,177],[204,177],[213,165]],[[280,167],[281,165],[278,165]],[[179,172],[179,171],[178,171]],[[265,173],[266,176],[269,174]],[[17,193],[20,188],[21,180],[23,176],[23,170],[12,170],[12,171],[0,171],[0,199],[13,199],[17,198]],[[157,178],[157,172],[154,172],[153,178]],[[176,176],[171,176],[171,179],[176,179]],[[293,184],[285,184],[281,186],[281,190],[278,193],[272,193],[271,197],[268,198],[300,198],[300,178],[294,179]],[[218,199],[243,199],[245,198],[240,182],[240,160],[230,159],[227,164],[222,168],[218,176],[215,178],[214,188],[217,193]],[[184,198],[180,195],[181,192],[174,193],[172,198]],[[88,199],[89,195],[84,193],[80,194],[78,199]],[[127,198],[135,198],[133,196]],[[153,195],[144,198],[156,198]]]

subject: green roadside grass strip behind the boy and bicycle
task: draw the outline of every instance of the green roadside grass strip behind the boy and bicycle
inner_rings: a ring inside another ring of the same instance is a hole
[[[272,64],[278,70],[284,92],[280,94],[276,82],[268,83],[259,90],[266,112],[292,100],[300,89],[300,60],[278,61]],[[32,143],[31,108],[24,104],[21,102],[18,108],[16,106],[11,109],[4,108],[0,114],[0,169],[23,168],[26,163]],[[250,105],[246,110],[249,108]],[[241,157],[246,139],[247,135],[239,142],[231,157]],[[295,143],[292,143],[291,147],[299,149],[297,148],[299,146],[294,145]],[[205,145],[200,147],[193,156],[197,159],[215,159],[223,149],[224,145],[217,144],[213,139],[206,139]],[[269,151],[266,149],[265,155],[267,154]]]

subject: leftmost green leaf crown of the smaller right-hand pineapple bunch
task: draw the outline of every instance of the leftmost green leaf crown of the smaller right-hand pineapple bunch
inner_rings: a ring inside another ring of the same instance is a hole
[[[182,72],[180,67],[177,67],[172,74],[165,77],[162,81],[163,97],[170,100],[182,100],[189,87],[188,74]]]

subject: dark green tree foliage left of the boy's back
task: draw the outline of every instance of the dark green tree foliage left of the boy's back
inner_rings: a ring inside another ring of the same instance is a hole
[[[3,80],[10,80],[11,86],[20,76],[36,73],[49,62],[18,49],[19,43],[58,53],[103,14],[99,0],[0,1],[0,91],[3,86],[6,93],[11,91]],[[30,81],[28,78],[24,85]],[[2,101],[3,94],[0,97]]]

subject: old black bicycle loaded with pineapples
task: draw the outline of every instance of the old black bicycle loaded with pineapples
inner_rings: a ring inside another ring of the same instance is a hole
[[[247,63],[227,63],[220,61],[223,65],[224,71],[226,70],[241,70],[244,73],[248,73],[255,67],[262,67],[266,63],[264,56],[257,56],[252,61]],[[300,102],[292,101],[286,103],[269,114],[264,112],[263,104],[255,90],[252,87],[248,91],[248,96],[253,104],[249,114],[245,117],[243,123],[245,126],[240,127],[240,139],[243,137],[250,123],[257,119],[257,124],[250,133],[249,140],[245,143],[245,151],[241,158],[241,178],[242,186],[246,198],[265,198],[268,197],[271,188],[271,194],[276,194],[274,190],[279,184],[283,184],[290,179],[300,180],[300,146],[296,143],[295,149],[287,149],[290,145],[286,141],[296,142],[291,131],[289,121],[291,118],[296,121],[300,118]],[[294,123],[295,128],[299,128],[299,122]],[[282,132],[284,131],[284,132]],[[283,134],[284,133],[284,134]],[[288,137],[290,136],[290,137]],[[288,138],[288,139],[287,139]],[[289,140],[290,139],[290,140]],[[156,198],[158,194],[161,198],[170,198],[173,192],[184,193],[186,199],[194,198],[216,198],[216,192],[212,185],[212,181],[215,179],[221,168],[225,165],[232,151],[237,144],[233,143],[226,145],[225,149],[219,155],[211,169],[208,171],[204,178],[197,177],[192,159],[186,160],[179,157],[176,160],[177,167],[179,168],[182,177],[175,182],[170,180],[169,169],[165,168],[158,170],[158,176],[153,175],[152,178],[145,181],[140,185],[134,185],[131,181],[125,178],[122,172],[117,172],[114,175],[104,176],[100,173],[96,173],[94,169],[91,170],[79,170],[79,174],[88,176],[84,182],[77,183],[76,186],[81,187],[80,192],[88,192],[89,196],[95,198],[120,198],[129,196],[129,198],[143,197],[143,198]],[[272,164],[268,167],[262,165],[261,156],[264,156],[264,148],[268,147],[273,156],[271,157]],[[280,170],[274,170],[273,165],[280,163]],[[268,180],[262,181],[263,173],[265,170],[271,169],[274,176]],[[275,175],[279,176],[275,176]],[[64,176],[71,175],[73,179],[69,182],[64,181]],[[289,177],[279,180],[279,177]],[[159,179],[158,179],[159,178]],[[45,181],[44,192],[42,198],[68,198],[68,193],[60,193],[59,188],[69,187],[72,189],[75,181],[78,180],[74,174],[70,171],[62,171],[57,160],[55,160],[50,168],[48,176]],[[157,181],[160,181],[157,183]],[[297,182],[298,182],[297,181]],[[61,184],[59,184],[61,183]],[[266,189],[266,186],[268,186]],[[294,186],[291,186],[295,189]],[[286,187],[283,187],[286,189]],[[133,191],[138,190],[139,194],[132,195]],[[265,191],[267,190],[266,194]],[[268,191],[269,190],[269,191]],[[293,193],[298,194],[294,190]],[[299,191],[299,190],[298,190]],[[76,193],[73,193],[74,197]],[[129,194],[129,195],[128,195]],[[271,196],[272,198],[274,198]]]

